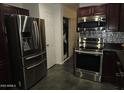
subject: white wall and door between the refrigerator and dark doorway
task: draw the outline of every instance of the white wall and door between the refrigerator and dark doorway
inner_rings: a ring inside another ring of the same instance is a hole
[[[48,49],[48,68],[54,64],[62,64],[61,45],[61,5],[39,4],[39,16],[45,19],[46,43]]]

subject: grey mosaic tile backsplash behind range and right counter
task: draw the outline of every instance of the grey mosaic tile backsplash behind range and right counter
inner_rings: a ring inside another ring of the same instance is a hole
[[[103,38],[104,43],[124,43],[124,32],[82,31],[82,37]]]

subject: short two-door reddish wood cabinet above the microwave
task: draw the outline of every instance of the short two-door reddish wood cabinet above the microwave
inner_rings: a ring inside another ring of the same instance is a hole
[[[106,14],[106,5],[99,6],[90,6],[79,8],[78,16],[94,16],[94,15],[105,15]]]

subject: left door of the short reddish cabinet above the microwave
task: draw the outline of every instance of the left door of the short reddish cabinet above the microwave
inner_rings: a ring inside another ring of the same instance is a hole
[[[79,11],[78,11],[79,17],[91,16],[91,15],[92,15],[92,8],[91,7],[79,8]]]

